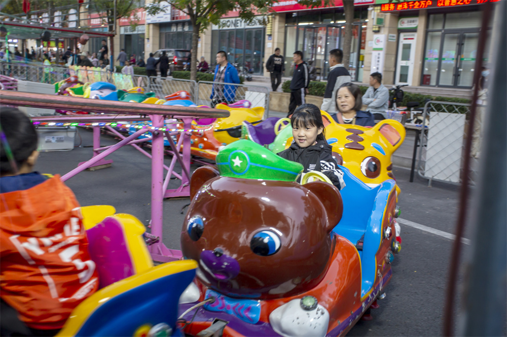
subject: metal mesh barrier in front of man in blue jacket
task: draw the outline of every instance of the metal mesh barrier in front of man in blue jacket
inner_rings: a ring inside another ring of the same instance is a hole
[[[262,106],[264,116],[269,116],[269,88],[249,84],[199,81],[197,83],[196,104],[213,107],[215,103],[247,100],[252,107]]]

